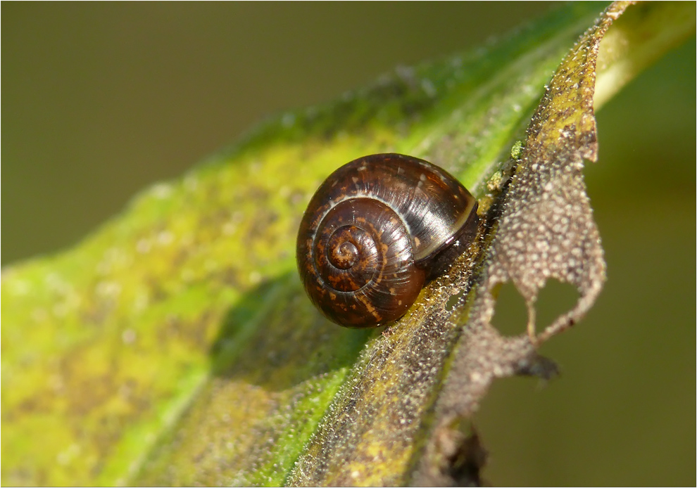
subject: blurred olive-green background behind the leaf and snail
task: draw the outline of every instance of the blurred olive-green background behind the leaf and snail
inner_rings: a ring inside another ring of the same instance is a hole
[[[486,42],[553,4],[6,3],[1,260],[56,252],[263,117]],[[602,4],[598,4],[598,11]],[[598,113],[586,169],[608,283],[475,418],[493,484],[696,480],[695,39]],[[689,225],[688,225],[689,224]],[[548,286],[541,323],[574,294]],[[494,322],[525,328],[503,288]]]

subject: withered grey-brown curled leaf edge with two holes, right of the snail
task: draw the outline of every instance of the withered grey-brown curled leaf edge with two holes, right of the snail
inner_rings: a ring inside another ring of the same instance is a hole
[[[584,316],[605,281],[605,261],[583,179],[584,160],[596,161],[593,111],[595,68],[603,34],[626,3],[610,6],[563,60],[527,129],[527,141],[503,197],[496,234],[485,251],[482,275],[443,392],[438,424],[415,475],[417,484],[450,484],[443,439],[458,418],[469,417],[494,378],[533,374],[548,378],[554,364],[536,347]],[[546,281],[577,288],[579,300],[541,333],[535,302]],[[527,337],[504,338],[491,326],[497,285],[513,281],[528,310]],[[474,481],[474,480],[473,480]]]

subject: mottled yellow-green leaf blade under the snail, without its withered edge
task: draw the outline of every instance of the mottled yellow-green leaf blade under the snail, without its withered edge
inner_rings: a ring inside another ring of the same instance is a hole
[[[608,58],[608,73],[632,62],[603,93],[657,56],[634,53],[693,32],[679,6],[635,8],[624,32],[655,30]],[[323,484],[406,482],[457,338],[424,328],[427,304],[462,290],[430,286],[386,335],[333,326],[296,276],[301,214],[333,169],[387,151],[441,165],[482,207],[494,202],[544,84],[598,10],[571,4],[270,120],[73,250],[4,270],[2,482],[287,484],[310,471]],[[367,418],[360,437],[341,437]],[[345,449],[334,459],[353,457],[328,463],[332,445]]]

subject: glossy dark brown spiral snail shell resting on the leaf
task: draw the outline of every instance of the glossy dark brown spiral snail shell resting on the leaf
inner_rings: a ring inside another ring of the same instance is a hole
[[[310,200],[298,232],[300,276],[327,319],[379,326],[448,269],[477,222],[477,200],[444,169],[401,154],[358,158]]]

